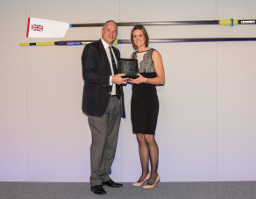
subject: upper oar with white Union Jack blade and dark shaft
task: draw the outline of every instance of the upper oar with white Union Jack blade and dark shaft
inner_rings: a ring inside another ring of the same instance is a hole
[[[132,25],[254,25],[256,19],[221,19],[200,21],[155,21],[155,22],[118,22],[118,26]],[[26,37],[29,38],[64,38],[70,27],[96,27],[103,23],[68,24],[43,18],[28,18]]]

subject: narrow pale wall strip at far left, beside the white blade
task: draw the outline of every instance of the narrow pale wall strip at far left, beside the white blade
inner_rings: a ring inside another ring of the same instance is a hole
[[[25,3],[1,1],[0,10],[0,180],[26,181]]]

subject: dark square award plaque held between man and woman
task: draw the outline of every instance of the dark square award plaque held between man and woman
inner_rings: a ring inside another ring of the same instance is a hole
[[[138,78],[138,60],[121,58],[118,61],[118,73],[125,74],[124,77],[132,79]]]

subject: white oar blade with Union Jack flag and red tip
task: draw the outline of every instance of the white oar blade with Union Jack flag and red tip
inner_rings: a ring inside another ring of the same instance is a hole
[[[69,24],[43,18],[28,18],[27,38],[64,38]]]

